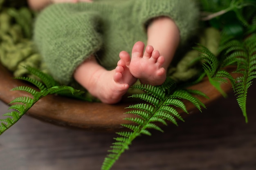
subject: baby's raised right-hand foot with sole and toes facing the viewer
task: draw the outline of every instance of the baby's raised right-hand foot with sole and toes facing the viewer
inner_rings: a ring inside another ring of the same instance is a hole
[[[161,85],[166,79],[166,70],[162,67],[164,57],[153,46],[136,42],[132,48],[132,59],[130,61],[130,73],[138,78],[142,84]]]

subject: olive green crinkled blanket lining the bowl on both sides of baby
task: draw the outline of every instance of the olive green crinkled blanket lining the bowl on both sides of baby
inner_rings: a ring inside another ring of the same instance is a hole
[[[8,1],[0,0],[0,62],[13,72],[14,77],[31,76],[23,66],[39,68],[47,73],[47,67],[34,47],[32,37],[33,19],[36,13],[27,6],[12,7]],[[207,28],[202,31],[199,43],[216,54],[220,33],[216,29]],[[198,51],[186,53],[176,66],[168,73],[177,81],[187,81],[198,74],[198,68],[190,62],[198,57]]]

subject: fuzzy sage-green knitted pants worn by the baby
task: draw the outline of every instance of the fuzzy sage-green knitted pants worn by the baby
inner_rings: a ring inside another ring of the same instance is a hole
[[[146,43],[146,26],[168,16],[181,42],[195,32],[199,10],[192,0],[94,0],[53,4],[35,23],[34,40],[53,77],[69,84],[74,70],[92,54],[106,69],[115,68],[120,51]]]

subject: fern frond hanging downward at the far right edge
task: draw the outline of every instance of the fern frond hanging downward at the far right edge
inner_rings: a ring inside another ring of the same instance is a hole
[[[222,55],[224,54],[226,56],[222,66],[236,63],[237,69],[234,73],[242,75],[236,79],[228,78],[231,80],[234,93],[237,95],[238,105],[243,112],[246,122],[248,121],[246,112],[247,91],[252,85],[252,80],[256,78],[255,42],[256,34],[252,34],[245,40],[231,40],[229,43],[221,46]]]

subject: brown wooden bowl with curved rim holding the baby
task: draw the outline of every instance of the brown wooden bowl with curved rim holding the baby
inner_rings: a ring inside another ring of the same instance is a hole
[[[234,71],[229,68],[227,71]],[[29,96],[23,91],[10,91],[17,86],[29,86],[29,84],[18,79],[13,79],[13,75],[4,66],[0,64],[0,100],[9,104],[16,97]],[[198,89],[209,96],[209,99],[200,97],[199,99],[209,105],[219,97],[220,93],[209,83],[208,79],[204,79],[199,84],[190,87]],[[223,84],[222,88],[225,92],[231,90],[231,84]],[[119,104],[109,105],[97,102],[84,102],[77,99],[60,97],[56,95],[48,95],[40,99],[27,113],[36,119],[47,121],[52,124],[61,126],[82,128],[85,130],[97,131],[120,131],[120,124],[130,123],[124,120],[125,117],[132,115],[123,114],[127,111],[125,107],[129,106],[129,102],[120,102]],[[184,101],[190,114],[198,112],[198,109],[188,101]],[[182,117],[186,117],[186,113],[182,113]]]

